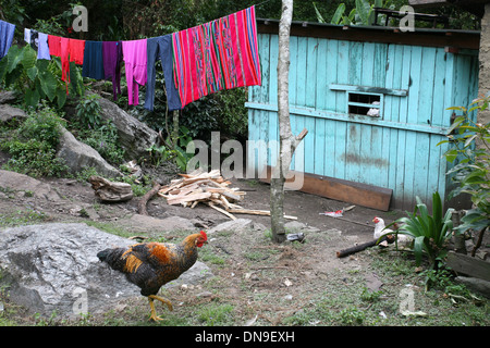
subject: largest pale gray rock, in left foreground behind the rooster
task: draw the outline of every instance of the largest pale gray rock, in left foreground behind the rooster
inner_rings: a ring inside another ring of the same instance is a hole
[[[81,311],[103,312],[139,288],[97,258],[108,247],[133,240],[85,224],[42,224],[0,231],[0,288],[33,312],[76,316]],[[168,285],[195,284],[211,275],[201,262]]]

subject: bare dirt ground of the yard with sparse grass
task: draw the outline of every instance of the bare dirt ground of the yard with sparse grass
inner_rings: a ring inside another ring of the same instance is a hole
[[[15,219],[19,219],[19,224],[30,223],[29,217],[20,217],[30,215],[33,223],[39,223],[39,216],[42,222],[93,221],[100,226],[123,228],[131,235],[131,226],[126,222],[137,213],[139,198],[124,203],[106,204],[95,198],[88,183],[71,178],[40,181],[49,184],[62,199],[48,201],[36,198],[32,192],[0,192],[3,195],[0,197],[2,215],[8,216],[13,224],[17,224]],[[269,185],[254,179],[232,179],[232,187],[246,191],[241,203],[244,208],[269,210]],[[163,325],[244,325],[250,321],[255,325],[350,325],[352,320],[356,320],[356,308],[367,311],[359,314],[364,318],[360,320],[362,324],[417,324],[416,319],[405,319],[399,313],[399,293],[402,288],[412,286],[416,293],[422,293],[420,279],[412,278],[416,276],[413,260],[401,257],[393,249],[380,250],[378,247],[347,258],[339,259],[335,256],[338,250],[371,240],[371,221],[375,216],[381,216],[389,223],[404,213],[356,206],[344,213],[343,220],[329,217],[319,213],[352,204],[301,191],[286,191],[284,206],[287,215],[297,216],[297,222],[306,225],[302,229],[305,233],[303,244],[286,241],[275,245],[267,237],[269,216],[236,214],[236,217],[250,219],[265,228],[210,235],[210,244],[203,248],[199,259],[211,269],[215,277],[206,284],[186,289],[164,289],[164,295],[177,304],[171,314],[164,313],[168,320]],[[83,216],[77,207],[84,208]],[[198,222],[206,229],[230,221],[228,216],[207,206],[198,204],[194,209],[172,207],[158,196],[147,207],[152,217],[182,216]],[[134,235],[145,233],[138,231]],[[151,231],[147,231],[146,235],[156,237]],[[166,240],[181,235],[182,232],[171,232],[161,237]],[[397,273],[379,268],[387,262],[393,263]],[[359,304],[366,289],[368,294],[382,291],[382,300],[375,306],[369,302]],[[346,294],[348,291],[354,294],[351,295],[355,300],[343,297],[350,296]],[[427,302],[430,301],[433,299],[427,299]],[[322,303],[329,304],[323,312],[320,311]],[[220,320],[217,319],[217,313],[205,312],[212,307],[226,313],[226,306],[232,308],[232,314],[223,314],[224,316],[219,316]],[[123,324],[142,324],[142,321],[146,324],[147,301],[143,298],[138,300],[139,310],[136,312],[133,307],[134,302],[125,303],[114,310],[113,316],[123,316]],[[432,311],[429,315],[436,321],[440,320],[440,310],[441,308],[426,309],[429,313]],[[160,308],[159,311],[163,309]],[[354,319],[350,319],[351,314]],[[430,322],[425,324],[430,325]]]

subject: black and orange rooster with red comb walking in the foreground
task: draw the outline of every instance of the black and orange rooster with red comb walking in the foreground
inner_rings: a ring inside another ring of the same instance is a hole
[[[128,248],[109,248],[97,253],[100,261],[111,269],[126,275],[127,281],[142,289],[142,295],[148,297],[151,309],[150,320],[162,320],[157,315],[154,300],[166,303],[169,310],[172,303],[157,296],[164,284],[176,279],[191,269],[197,261],[197,248],[207,244],[208,237],[204,231],[189,235],[179,244],[142,243]]]

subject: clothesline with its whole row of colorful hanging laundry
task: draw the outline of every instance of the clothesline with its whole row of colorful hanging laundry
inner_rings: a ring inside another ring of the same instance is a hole
[[[13,37],[14,28],[0,21],[0,59],[11,46],[12,38],[9,45],[8,37]],[[32,29],[24,30],[24,39],[37,49],[38,59],[61,58],[66,94],[70,62],[74,62],[83,65],[84,77],[112,78],[115,100],[121,94],[124,62],[128,104],[139,104],[139,86],[146,86],[148,110],[154,109],[158,60],[162,63],[171,111],[221,89],[261,84],[255,7],[185,30],[138,40],[79,40]]]

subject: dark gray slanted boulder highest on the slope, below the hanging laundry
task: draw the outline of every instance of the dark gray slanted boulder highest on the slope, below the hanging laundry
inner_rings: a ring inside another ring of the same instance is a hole
[[[124,148],[126,157],[131,160],[147,157],[146,149],[157,142],[158,133],[106,98],[100,98],[99,104],[100,116],[111,120],[118,128],[119,142]]]

